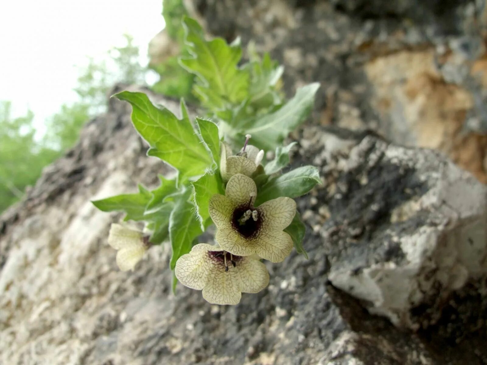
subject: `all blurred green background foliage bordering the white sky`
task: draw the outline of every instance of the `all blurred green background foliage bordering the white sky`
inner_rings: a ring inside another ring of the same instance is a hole
[[[165,0],[163,16],[166,32],[179,52],[185,51],[181,18],[186,10],[181,0]],[[45,121],[46,132],[39,136],[33,125],[34,112],[12,117],[10,101],[0,101],[0,212],[21,199],[25,189],[36,183],[44,166],[51,164],[75,145],[84,124],[106,109],[107,93],[113,84],[144,84],[148,69],[138,62],[139,50],[132,37],[125,35],[126,44],[114,47],[104,59],[88,58],[80,68],[75,92],[78,101],[66,103]],[[191,98],[193,75],[177,62],[177,55],[150,66],[160,74],[152,86],[168,96]]]

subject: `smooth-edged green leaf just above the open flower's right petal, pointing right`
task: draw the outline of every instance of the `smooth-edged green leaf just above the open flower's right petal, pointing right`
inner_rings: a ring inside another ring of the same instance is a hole
[[[321,183],[318,168],[301,166],[264,184],[257,192],[256,205],[279,197],[296,198]]]

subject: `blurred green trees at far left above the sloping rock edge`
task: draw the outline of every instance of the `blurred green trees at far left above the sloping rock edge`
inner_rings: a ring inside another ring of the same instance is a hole
[[[146,68],[138,60],[133,38],[112,48],[101,61],[88,59],[80,69],[74,89],[79,100],[61,105],[46,123],[46,133],[36,136],[34,113],[12,118],[11,103],[0,101],[0,212],[17,201],[33,185],[42,168],[75,145],[84,124],[106,110],[107,93],[116,82],[143,84]]]

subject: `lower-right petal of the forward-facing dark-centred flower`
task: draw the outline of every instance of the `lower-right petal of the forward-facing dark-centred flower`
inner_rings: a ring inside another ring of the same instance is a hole
[[[261,231],[255,238],[257,255],[271,262],[281,262],[293,249],[291,236],[283,231]]]

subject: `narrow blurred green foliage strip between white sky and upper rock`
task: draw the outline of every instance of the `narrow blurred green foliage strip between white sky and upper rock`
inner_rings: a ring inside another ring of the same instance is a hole
[[[187,72],[178,62],[178,57],[188,56],[187,47],[184,43],[185,31],[182,19],[187,15],[182,0],[164,0],[162,15],[166,22],[164,32],[169,36],[166,42],[166,49],[163,50],[162,58],[151,60],[150,68],[159,73],[160,80],[152,86],[152,90],[172,97],[184,97],[194,101],[191,94],[194,82],[194,75]]]

